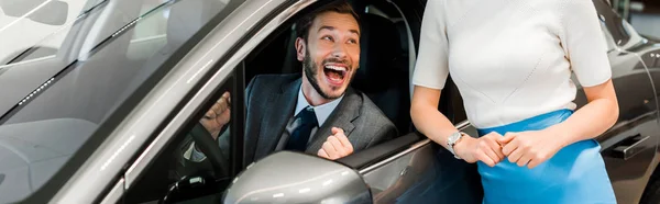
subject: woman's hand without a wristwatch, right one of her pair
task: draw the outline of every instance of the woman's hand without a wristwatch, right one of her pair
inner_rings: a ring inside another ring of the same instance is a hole
[[[507,133],[497,139],[510,162],[531,169],[552,158],[563,148],[562,141],[548,131]]]

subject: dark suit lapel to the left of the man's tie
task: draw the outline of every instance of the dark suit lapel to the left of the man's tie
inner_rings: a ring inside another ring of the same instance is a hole
[[[263,104],[265,112],[261,120],[262,126],[256,146],[256,158],[267,156],[275,150],[288,120],[294,114],[300,83],[301,80],[298,79],[282,86],[279,91],[270,94],[267,104]]]

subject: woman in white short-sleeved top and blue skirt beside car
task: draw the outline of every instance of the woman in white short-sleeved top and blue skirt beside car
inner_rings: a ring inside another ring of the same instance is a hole
[[[410,114],[459,159],[477,162],[484,203],[616,203],[601,146],[618,117],[591,0],[429,0]],[[575,73],[588,103],[575,110]],[[438,111],[451,73],[479,137]]]

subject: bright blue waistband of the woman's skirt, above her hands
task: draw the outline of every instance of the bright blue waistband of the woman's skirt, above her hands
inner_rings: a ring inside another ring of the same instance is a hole
[[[546,113],[536,114],[532,116],[528,116],[524,120],[518,120],[513,123],[507,123],[504,125],[487,127],[487,128],[476,128],[480,136],[488,134],[491,132],[496,132],[502,135],[507,132],[525,132],[525,131],[540,131],[554,124],[559,124],[569,116],[573,114],[573,110],[571,109],[559,109],[554,111],[549,111]]]

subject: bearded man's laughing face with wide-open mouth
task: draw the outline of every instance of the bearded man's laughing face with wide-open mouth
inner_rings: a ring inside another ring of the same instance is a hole
[[[351,14],[328,11],[314,19],[308,32],[307,42],[297,41],[304,80],[324,100],[337,99],[345,92],[360,65],[358,21]]]

